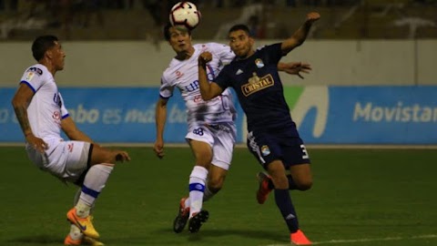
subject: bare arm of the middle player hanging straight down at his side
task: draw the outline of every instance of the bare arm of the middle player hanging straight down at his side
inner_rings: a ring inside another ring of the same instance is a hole
[[[168,99],[159,97],[157,108],[155,109],[155,122],[157,125],[157,140],[153,146],[153,151],[159,159],[164,157],[164,128],[167,119]]]

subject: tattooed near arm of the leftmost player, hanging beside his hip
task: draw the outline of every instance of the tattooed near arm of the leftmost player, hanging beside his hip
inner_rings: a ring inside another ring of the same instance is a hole
[[[32,97],[34,97],[34,94],[34,91],[30,87],[22,83],[15,92],[15,96],[12,99],[12,106],[14,107],[15,117],[20,123],[27,143],[36,150],[44,152],[48,146],[43,139],[37,138],[34,135],[32,128],[30,128],[29,118],[27,118],[27,107],[29,106]]]

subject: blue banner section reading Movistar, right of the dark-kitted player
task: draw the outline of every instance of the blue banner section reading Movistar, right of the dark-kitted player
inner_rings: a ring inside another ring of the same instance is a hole
[[[286,87],[310,144],[437,144],[437,87]]]

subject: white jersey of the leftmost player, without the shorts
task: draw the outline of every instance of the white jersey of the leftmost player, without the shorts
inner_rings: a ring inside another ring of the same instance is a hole
[[[57,91],[55,78],[41,64],[25,69],[21,83],[31,87],[35,95],[27,108],[30,128],[46,142],[61,138],[61,119],[68,116],[64,100]]]

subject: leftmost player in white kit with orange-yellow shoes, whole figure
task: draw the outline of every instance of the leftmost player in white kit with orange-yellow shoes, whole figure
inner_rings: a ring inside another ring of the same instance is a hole
[[[55,81],[66,54],[56,36],[38,36],[32,45],[37,64],[25,69],[12,100],[25,135],[28,158],[63,181],[79,186],[75,207],[66,213],[70,232],[66,245],[103,245],[90,210],[105,187],[116,161],[130,160],[127,152],[99,147],[76,128]],[[70,140],[61,138],[61,129]]]

